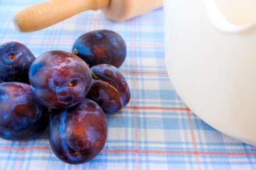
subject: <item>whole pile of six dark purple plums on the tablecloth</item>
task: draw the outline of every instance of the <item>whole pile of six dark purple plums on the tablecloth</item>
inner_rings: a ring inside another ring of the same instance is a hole
[[[0,46],[0,137],[26,140],[49,124],[49,144],[63,162],[81,164],[105,145],[104,113],[130,100],[119,71],[126,57],[122,37],[108,30],[85,33],[72,53],[53,50],[39,57],[19,42]]]

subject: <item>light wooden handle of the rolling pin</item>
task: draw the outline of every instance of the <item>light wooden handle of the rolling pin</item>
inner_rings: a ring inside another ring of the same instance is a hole
[[[20,32],[37,31],[85,10],[108,7],[110,0],[52,0],[24,8],[14,15]]]

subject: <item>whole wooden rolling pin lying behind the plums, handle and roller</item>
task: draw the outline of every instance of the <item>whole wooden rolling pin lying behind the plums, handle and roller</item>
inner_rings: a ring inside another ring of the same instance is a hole
[[[85,10],[98,10],[121,22],[163,6],[164,0],[52,0],[24,8],[14,15],[20,32],[37,31]]]

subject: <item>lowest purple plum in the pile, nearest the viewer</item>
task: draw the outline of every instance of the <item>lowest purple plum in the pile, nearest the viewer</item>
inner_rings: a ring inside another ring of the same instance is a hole
[[[50,113],[49,143],[65,163],[81,164],[95,158],[105,145],[108,125],[104,112],[92,100]]]

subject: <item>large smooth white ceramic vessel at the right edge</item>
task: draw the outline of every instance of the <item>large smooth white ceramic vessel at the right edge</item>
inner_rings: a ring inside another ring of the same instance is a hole
[[[166,0],[166,65],[181,100],[256,146],[256,0]]]

